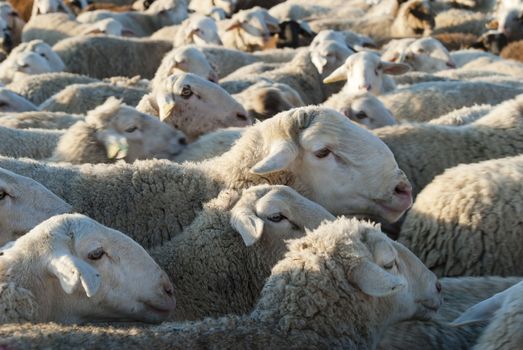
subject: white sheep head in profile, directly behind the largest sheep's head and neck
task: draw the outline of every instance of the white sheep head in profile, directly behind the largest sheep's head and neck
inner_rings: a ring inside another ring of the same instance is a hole
[[[248,126],[253,120],[227,91],[195,74],[176,74],[153,91],[160,119],[190,139],[220,128]]]

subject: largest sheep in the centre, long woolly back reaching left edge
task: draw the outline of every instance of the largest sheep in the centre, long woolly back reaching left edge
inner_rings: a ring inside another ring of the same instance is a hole
[[[289,185],[334,215],[368,213],[385,221],[412,203],[410,184],[385,144],[334,110],[312,106],[255,124],[229,152],[196,164],[74,167],[0,157],[0,167],[41,182],[76,211],[146,247],[179,234],[224,189]],[[332,181],[326,186],[317,174]]]

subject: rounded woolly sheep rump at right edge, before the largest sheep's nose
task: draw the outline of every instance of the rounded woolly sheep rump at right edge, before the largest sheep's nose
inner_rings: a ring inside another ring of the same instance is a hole
[[[418,196],[399,241],[438,276],[522,275],[523,156],[459,165]]]

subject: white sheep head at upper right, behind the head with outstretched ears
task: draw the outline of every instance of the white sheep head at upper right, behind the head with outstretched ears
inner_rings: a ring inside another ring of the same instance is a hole
[[[456,68],[449,51],[434,38],[423,38],[414,41],[407,47],[404,61],[413,70],[433,73],[449,68]]]

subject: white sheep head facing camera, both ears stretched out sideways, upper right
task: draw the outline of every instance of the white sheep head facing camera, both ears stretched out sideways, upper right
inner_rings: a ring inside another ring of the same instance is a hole
[[[323,80],[334,83],[347,80],[343,90],[349,94],[369,91],[373,95],[384,92],[384,74],[399,75],[406,73],[410,67],[404,63],[385,62],[372,52],[358,52],[349,56],[345,63]]]

